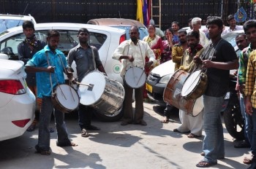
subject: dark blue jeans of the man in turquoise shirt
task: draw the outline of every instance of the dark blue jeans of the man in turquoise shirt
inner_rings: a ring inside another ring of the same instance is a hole
[[[36,149],[38,152],[50,150],[50,117],[53,112],[53,103],[51,97],[42,97],[42,107],[39,117],[39,133],[38,133],[38,144]],[[55,109],[54,111],[55,126],[57,130],[57,145],[68,145],[70,144],[67,127],[64,122],[64,113]]]

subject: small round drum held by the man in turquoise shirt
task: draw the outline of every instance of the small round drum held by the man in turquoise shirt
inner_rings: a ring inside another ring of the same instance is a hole
[[[53,90],[53,106],[64,113],[69,113],[78,108],[79,97],[75,89],[67,84],[59,84]]]

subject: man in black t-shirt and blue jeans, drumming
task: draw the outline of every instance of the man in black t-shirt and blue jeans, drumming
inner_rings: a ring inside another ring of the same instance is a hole
[[[211,38],[206,50],[195,56],[194,60],[206,69],[208,86],[203,95],[205,138],[203,153],[205,157],[197,163],[197,167],[206,168],[217,165],[217,159],[225,157],[224,135],[220,111],[227,93],[229,73],[238,68],[238,58],[232,45],[221,38],[223,21],[220,17],[210,17],[206,26]]]

